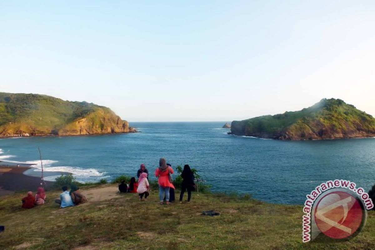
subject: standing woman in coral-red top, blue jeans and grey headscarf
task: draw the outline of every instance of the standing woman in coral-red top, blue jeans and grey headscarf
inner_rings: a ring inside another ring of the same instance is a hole
[[[164,158],[160,158],[159,168],[157,168],[155,171],[155,176],[159,179],[158,183],[160,205],[163,205],[164,193],[166,204],[169,204],[169,188],[174,189],[174,186],[169,178],[173,173],[173,169],[166,165],[166,160]]]

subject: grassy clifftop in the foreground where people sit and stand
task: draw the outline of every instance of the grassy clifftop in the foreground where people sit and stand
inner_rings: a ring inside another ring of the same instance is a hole
[[[108,187],[106,184],[98,187]],[[83,190],[93,186],[82,187]],[[199,194],[190,203],[159,205],[158,191],[147,201],[121,194],[107,201],[60,209],[47,192],[48,203],[20,208],[22,194],[1,197],[0,249],[24,242],[28,249],[375,249],[375,213],[351,241],[302,243],[302,207],[273,205],[237,195]],[[176,192],[176,197],[179,192]],[[186,197],[185,197],[186,199]],[[201,216],[216,210],[220,216]],[[78,248],[79,249],[79,248]]]

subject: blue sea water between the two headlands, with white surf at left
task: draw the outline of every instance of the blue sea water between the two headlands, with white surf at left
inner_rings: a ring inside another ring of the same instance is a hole
[[[303,204],[318,184],[335,179],[375,184],[375,139],[276,141],[227,135],[225,122],[130,123],[141,133],[0,139],[0,160],[38,163],[78,180],[150,173],[165,157],[189,164],[217,192],[251,193],[263,201]],[[151,175],[154,178],[153,175]]]

